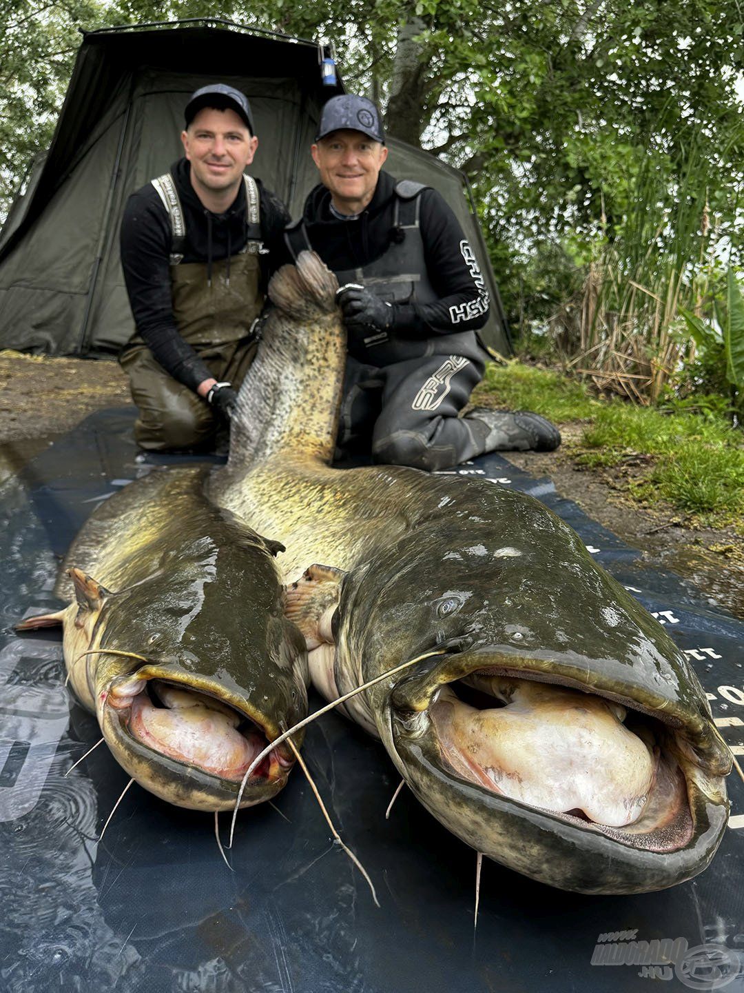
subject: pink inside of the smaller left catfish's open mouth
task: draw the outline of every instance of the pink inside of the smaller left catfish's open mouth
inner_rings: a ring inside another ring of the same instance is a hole
[[[240,782],[270,744],[252,717],[201,687],[160,678],[131,677],[112,684],[106,705],[140,745],[219,780]],[[270,752],[249,783],[283,779],[294,759]]]

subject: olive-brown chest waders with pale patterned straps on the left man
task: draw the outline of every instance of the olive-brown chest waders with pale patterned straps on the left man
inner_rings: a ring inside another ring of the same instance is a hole
[[[262,252],[258,187],[243,176],[248,240],[230,258],[211,263],[184,262],[186,221],[170,173],[152,181],[171,222],[171,292],[179,333],[217,381],[238,389],[254,355],[252,326],[264,304],[260,290]],[[205,400],[169,375],[142,338],[135,334],[119,361],[130,379],[139,408],[135,440],[151,451],[203,449],[214,445],[222,428]]]

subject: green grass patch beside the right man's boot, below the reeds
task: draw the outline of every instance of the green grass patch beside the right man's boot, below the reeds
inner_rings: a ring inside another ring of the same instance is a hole
[[[744,432],[709,408],[665,413],[620,398],[599,400],[551,369],[489,364],[472,402],[534,410],[558,425],[588,421],[570,457],[591,469],[616,468],[616,482],[645,503],[664,501],[706,527],[744,534]]]

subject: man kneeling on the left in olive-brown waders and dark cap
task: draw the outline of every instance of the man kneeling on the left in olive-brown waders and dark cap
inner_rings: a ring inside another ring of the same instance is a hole
[[[253,327],[286,249],[284,205],[244,170],[258,138],[246,96],[216,83],[186,104],[184,158],[132,194],[121,261],[137,331],[120,355],[142,448],[209,449],[226,435]]]

